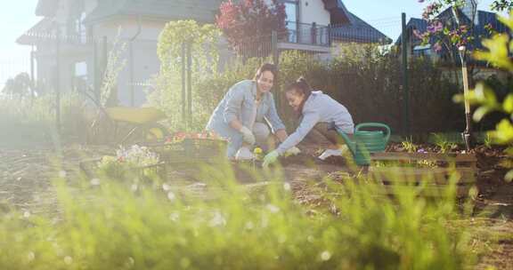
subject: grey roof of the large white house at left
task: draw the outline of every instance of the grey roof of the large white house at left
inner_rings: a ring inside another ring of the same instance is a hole
[[[198,20],[211,23],[222,0],[110,0],[99,2],[85,23],[112,16],[142,16],[157,20]]]

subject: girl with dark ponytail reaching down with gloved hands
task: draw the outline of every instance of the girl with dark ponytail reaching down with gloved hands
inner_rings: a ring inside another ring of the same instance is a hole
[[[338,132],[349,135],[354,133],[353,117],[346,107],[322,91],[312,91],[303,77],[290,84],[285,90],[285,95],[289,106],[301,115],[301,123],[276,150],[265,155],[264,166],[274,163],[278,156],[296,147],[307,135],[316,142],[330,141],[330,147],[319,156],[322,160],[331,155],[342,155],[343,151],[340,148],[343,141]]]

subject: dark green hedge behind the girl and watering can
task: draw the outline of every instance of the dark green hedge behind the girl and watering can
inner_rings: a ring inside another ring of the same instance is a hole
[[[382,122],[399,131],[404,102],[401,66],[395,52],[371,44],[344,44],[334,54],[334,59],[328,61],[297,52],[285,53],[280,60],[281,86],[304,75],[314,89],[346,106],[355,123]],[[429,60],[417,59],[411,60],[409,73],[414,133],[448,131],[463,125],[462,119],[456,117],[461,109],[451,101],[458,87],[441,68]]]

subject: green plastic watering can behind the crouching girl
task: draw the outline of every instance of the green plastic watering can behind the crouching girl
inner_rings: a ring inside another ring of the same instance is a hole
[[[361,131],[362,128],[379,128],[387,131]],[[371,163],[371,154],[385,151],[388,139],[390,139],[390,127],[385,123],[360,123],[354,128],[353,139],[350,139],[346,133],[338,131],[338,134],[346,141],[346,145],[351,150],[354,157],[354,163],[357,165],[369,165]]]

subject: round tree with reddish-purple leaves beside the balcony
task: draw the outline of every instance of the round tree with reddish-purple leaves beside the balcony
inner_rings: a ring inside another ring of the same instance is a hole
[[[249,48],[251,51],[262,51],[263,46],[271,42],[273,31],[279,36],[287,35],[285,5],[279,0],[272,0],[269,4],[266,2],[244,0],[235,4],[228,0],[221,4],[216,24],[236,52],[248,50],[244,48],[248,44],[252,45]]]

